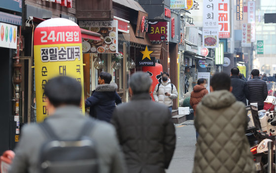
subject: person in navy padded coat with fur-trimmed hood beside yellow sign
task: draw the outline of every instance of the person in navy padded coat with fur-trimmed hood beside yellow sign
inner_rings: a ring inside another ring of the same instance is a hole
[[[85,107],[90,107],[90,116],[106,122],[110,122],[115,103],[122,103],[116,92],[117,85],[110,83],[111,80],[112,76],[109,73],[102,72],[98,79],[99,85],[85,101]]]

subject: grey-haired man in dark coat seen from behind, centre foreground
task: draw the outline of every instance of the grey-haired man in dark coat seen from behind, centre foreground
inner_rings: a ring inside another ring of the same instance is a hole
[[[175,149],[175,129],[168,107],[150,99],[151,79],[138,72],[130,79],[133,100],[119,105],[111,123],[117,130],[128,173],[165,173]]]

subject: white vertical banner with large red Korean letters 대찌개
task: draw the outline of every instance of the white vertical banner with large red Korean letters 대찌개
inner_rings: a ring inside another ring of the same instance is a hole
[[[219,38],[230,38],[230,0],[218,0]]]

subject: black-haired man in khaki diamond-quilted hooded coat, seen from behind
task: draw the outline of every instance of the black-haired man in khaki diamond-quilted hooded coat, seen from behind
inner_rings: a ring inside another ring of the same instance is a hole
[[[244,133],[245,106],[231,93],[229,75],[214,74],[210,91],[197,106],[194,123],[199,137],[193,173],[255,173]]]

